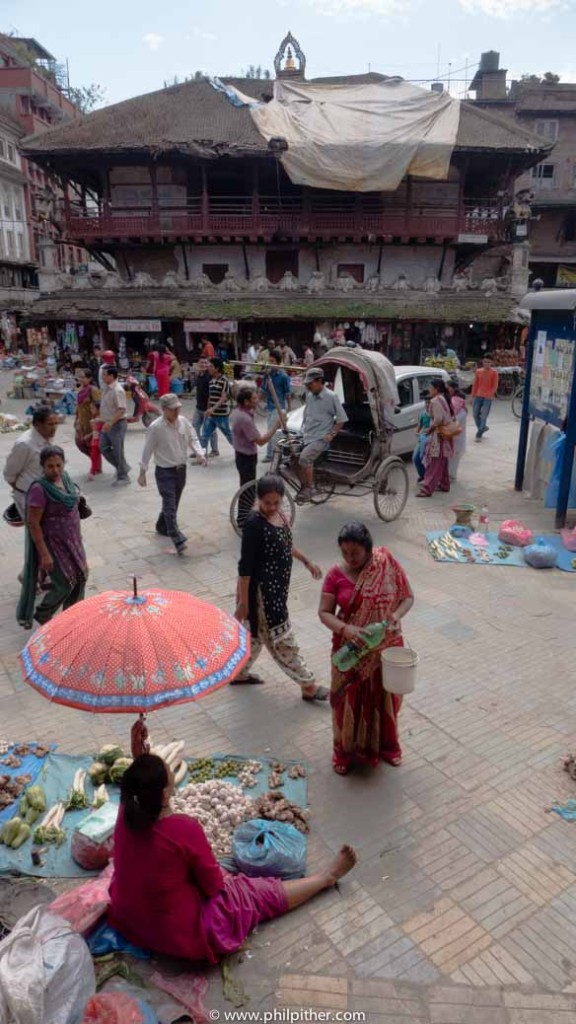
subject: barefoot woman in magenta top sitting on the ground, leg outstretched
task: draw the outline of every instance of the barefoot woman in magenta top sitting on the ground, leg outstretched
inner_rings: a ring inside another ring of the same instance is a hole
[[[249,879],[219,866],[202,826],[174,814],[172,772],[142,754],[122,779],[114,837],[110,923],[156,952],[215,964],[262,921],[330,889],[354,867],[344,846],[325,870],[304,879]]]

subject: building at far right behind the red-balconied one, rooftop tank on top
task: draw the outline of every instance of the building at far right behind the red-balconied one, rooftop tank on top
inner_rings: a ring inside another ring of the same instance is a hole
[[[532,280],[548,288],[576,284],[576,83],[507,83],[499,54],[483,53],[470,85],[476,102],[553,145],[522,174],[515,193],[529,216]]]

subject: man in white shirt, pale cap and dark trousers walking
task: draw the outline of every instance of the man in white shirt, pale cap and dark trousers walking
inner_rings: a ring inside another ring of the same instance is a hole
[[[186,465],[189,449],[206,466],[206,455],[192,424],[180,416],[181,401],[177,394],[160,398],[162,416],[148,428],[138,483],[146,487],[146,474],[152,456],[156,463],[156,485],[162,498],[162,511],[156,522],[156,532],[169,537],[177,553],[186,548],[187,539],[177,522],[177,511],[186,486]]]

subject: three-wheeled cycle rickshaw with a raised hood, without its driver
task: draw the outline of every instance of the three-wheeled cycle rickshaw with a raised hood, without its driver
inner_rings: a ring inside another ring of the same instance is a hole
[[[393,522],[406,505],[409,481],[404,462],[390,454],[392,423],[399,403],[392,362],[379,352],[337,347],[314,366],[324,370],[326,383],[340,397],[348,419],[315,464],[316,493],[311,504],[322,505],[334,494],[363,497],[371,493],[376,514]],[[301,434],[279,431],[277,438],[268,472],[278,473],[286,483],[283,512],[292,525],[302,488],[297,469]],[[254,504],[255,484],[255,480],[245,483],[232,500],[231,522],[239,536]]]

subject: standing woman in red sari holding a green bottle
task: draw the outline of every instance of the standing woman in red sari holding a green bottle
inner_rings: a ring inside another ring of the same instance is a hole
[[[400,621],[412,607],[414,596],[402,566],[386,548],[373,547],[364,523],[343,526],[338,545],[342,562],[324,580],[319,611],[333,634],[332,652],[349,641],[361,646],[371,623],[390,624],[380,646],[354,669],[342,673],[332,666],[332,765],[338,775],[345,775],[356,762],[371,767],[379,761],[401,763],[398,714],[402,697],[384,689],[380,652],[404,646]]]

